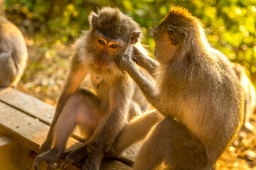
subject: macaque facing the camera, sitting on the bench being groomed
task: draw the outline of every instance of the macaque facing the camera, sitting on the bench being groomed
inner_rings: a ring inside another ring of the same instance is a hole
[[[39,169],[42,161],[48,162],[49,169],[53,166],[76,125],[90,138],[82,147],[68,153],[61,166],[66,169],[87,157],[82,169],[99,169],[117,133],[132,115],[142,112],[138,103],[143,103],[144,96],[136,102],[139,92],[134,93],[136,84],[115,63],[117,55],[132,55],[132,45],[138,42],[141,32],[138,23],[110,7],[102,8],[97,14],[92,12],[89,20],[90,30],[75,42],[68,78],[48,137],[41,146],[44,153],[36,158],[34,169]],[[97,95],[79,89],[86,74],[91,75]]]

